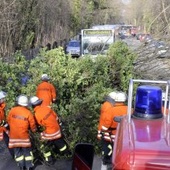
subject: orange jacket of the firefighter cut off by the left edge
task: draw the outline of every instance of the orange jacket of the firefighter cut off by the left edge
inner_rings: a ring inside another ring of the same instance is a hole
[[[5,103],[0,104],[0,123],[5,120]],[[0,141],[3,140],[3,132],[7,132],[4,126],[0,126]]]

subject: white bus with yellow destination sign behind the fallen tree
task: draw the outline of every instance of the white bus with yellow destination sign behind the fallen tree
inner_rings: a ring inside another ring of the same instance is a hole
[[[81,30],[81,56],[106,54],[110,44],[115,42],[113,29]]]

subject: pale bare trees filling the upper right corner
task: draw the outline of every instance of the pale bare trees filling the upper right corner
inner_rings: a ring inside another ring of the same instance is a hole
[[[134,25],[141,25],[144,32],[162,37],[170,31],[169,6],[169,0],[131,0],[126,8],[126,21],[131,20]]]

